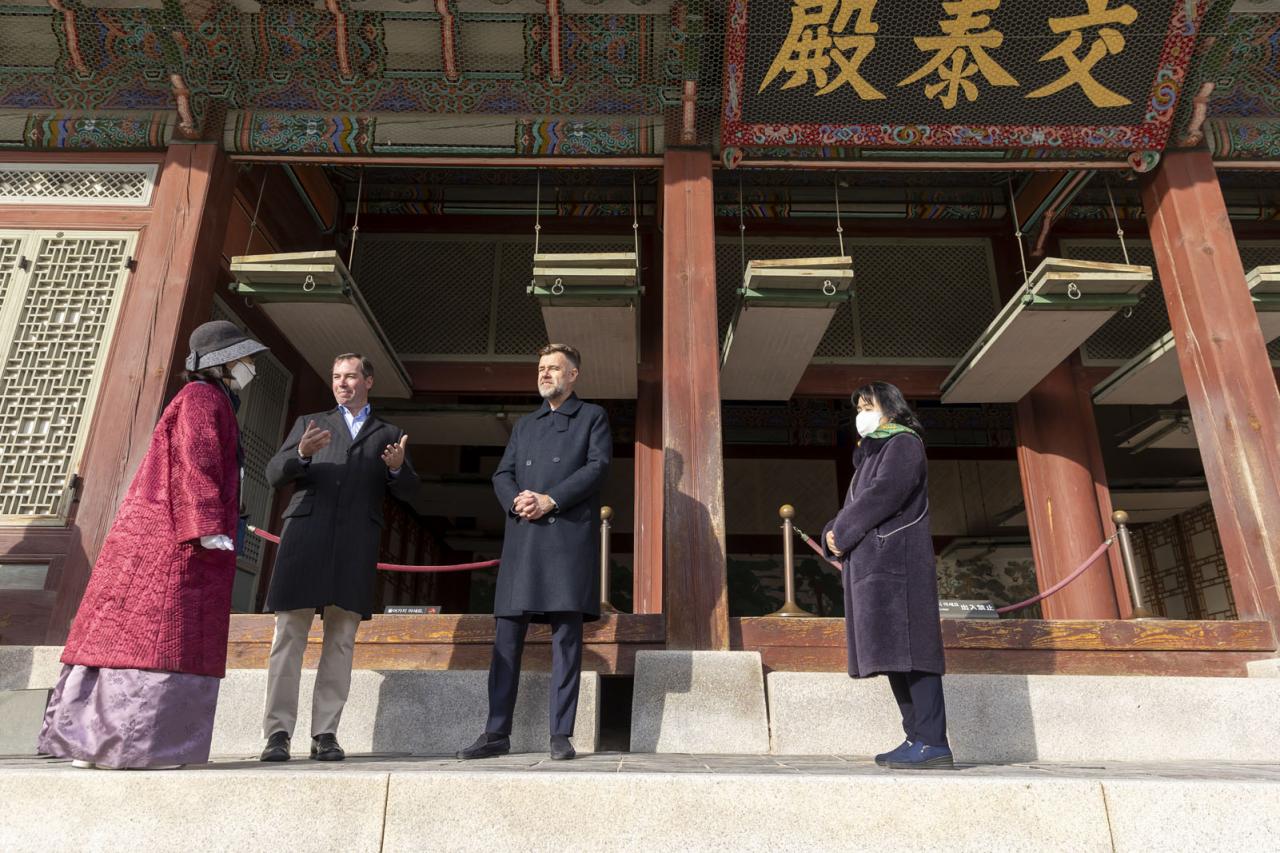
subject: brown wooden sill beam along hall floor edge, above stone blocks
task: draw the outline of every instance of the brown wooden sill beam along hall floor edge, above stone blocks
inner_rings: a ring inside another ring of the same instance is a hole
[[[232,616],[227,666],[265,669],[275,617]],[[582,669],[631,675],[639,651],[663,649],[659,613],[612,613],[589,622]],[[305,666],[320,657],[323,630],[312,625]],[[768,670],[845,671],[845,620],[730,620],[733,651],[760,652]],[[1012,675],[1201,675],[1243,676],[1249,661],[1275,657],[1267,622],[1010,619],[942,620],[947,671]],[[374,670],[484,670],[493,646],[493,617],[474,615],[375,616],[356,635],[356,667]],[[550,669],[550,631],[534,625],[525,648],[529,670]]]

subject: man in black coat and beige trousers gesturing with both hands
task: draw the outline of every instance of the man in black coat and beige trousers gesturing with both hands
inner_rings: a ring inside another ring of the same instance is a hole
[[[351,689],[356,629],[374,608],[383,497],[419,488],[404,453],[408,435],[372,414],[374,365],[357,352],[333,362],[329,411],[298,418],[266,466],[275,488],[293,485],[266,593],[275,639],[266,675],[262,761],[287,761],[298,716],[298,681],[311,617],[324,615],[324,646],[311,701],[311,757],[342,761],[338,721]]]

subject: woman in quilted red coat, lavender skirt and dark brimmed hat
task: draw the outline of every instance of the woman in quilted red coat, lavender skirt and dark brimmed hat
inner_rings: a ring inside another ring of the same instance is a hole
[[[237,392],[264,350],[225,320],[192,333],[187,384],[160,415],[72,622],[41,753],[111,770],[209,760],[236,576]]]

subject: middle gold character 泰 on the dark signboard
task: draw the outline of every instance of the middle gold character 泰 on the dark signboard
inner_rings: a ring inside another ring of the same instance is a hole
[[[978,72],[982,72],[992,86],[1018,86],[1018,81],[987,53],[1000,47],[1005,42],[1005,35],[989,29],[991,17],[978,13],[995,12],[998,8],[1000,0],[943,3],[942,9],[950,18],[940,20],[938,27],[946,35],[915,38],[916,47],[934,51],[933,59],[899,86],[914,83],[937,72],[940,82],[927,85],[924,96],[931,100],[938,97],[942,106],[948,110],[960,100],[961,92],[969,101],[978,100],[978,86],[969,79]]]

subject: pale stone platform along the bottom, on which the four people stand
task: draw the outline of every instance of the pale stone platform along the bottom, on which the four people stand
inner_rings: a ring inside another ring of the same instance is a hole
[[[844,756],[352,756],[175,771],[0,761],[0,849],[1263,850],[1280,765],[987,765]]]

